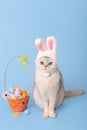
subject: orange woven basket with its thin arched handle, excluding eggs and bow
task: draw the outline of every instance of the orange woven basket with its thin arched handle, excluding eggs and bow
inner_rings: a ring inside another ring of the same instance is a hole
[[[20,56],[13,57],[6,66],[6,71],[5,71],[5,76],[4,76],[5,89],[6,89],[6,74],[7,74],[8,66],[16,58],[21,58],[21,57]],[[26,96],[23,96],[22,98],[15,98],[15,99],[7,97],[10,108],[14,112],[23,112],[24,110],[26,110],[29,99],[30,99],[30,95],[26,95]]]

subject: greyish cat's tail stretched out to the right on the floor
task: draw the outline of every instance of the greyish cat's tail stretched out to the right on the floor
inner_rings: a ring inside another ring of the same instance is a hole
[[[80,95],[83,95],[84,93],[85,91],[82,89],[78,89],[74,91],[65,91],[65,98],[80,96]]]

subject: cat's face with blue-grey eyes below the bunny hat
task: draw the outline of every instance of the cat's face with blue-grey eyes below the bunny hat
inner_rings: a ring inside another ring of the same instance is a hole
[[[37,60],[36,67],[44,72],[55,71],[57,68],[57,61],[44,56]]]

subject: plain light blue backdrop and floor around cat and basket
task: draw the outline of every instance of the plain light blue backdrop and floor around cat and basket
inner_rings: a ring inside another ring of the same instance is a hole
[[[57,118],[44,119],[33,101],[36,38],[53,35],[58,39],[58,66],[65,89],[83,88],[87,92],[87,1],[86,0],[0,0],[0,129],[1,130],[86,130],[87,94],[66,99],[57,109]],[[31,75],[15,60],[7,73],[7,88],[19,85],[31,92],[29,115],[12,116],[2,98],[4,73],[9,59],[29,53]]]

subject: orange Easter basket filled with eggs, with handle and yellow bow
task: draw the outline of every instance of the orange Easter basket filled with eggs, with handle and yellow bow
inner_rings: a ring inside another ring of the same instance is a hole
[[[6,74],[7,74],[7,70],[8,70],[9,64],[13,60],[19,58],[20,62],[22,63],[22,69],[24,69],[24,64],[25,63],[28,63],[28,65],[30,64],[30,62],[26,58],[27,56],[28,56],[28,54],[26,54],[23,57],[14,56],[8,62],[7,66],[6,66],[6,70],[5,70],[5,75],[4,75],[5,90],[6,90]],[[30,99],[30,93],[27,90],[20,90],[18,86],[15,86],[11,90],[5,91],[3,93],[3,97],[5,99],[7,99],[7,101],[9,103],[10,108],[11,108],[12,111],[14,111],[14,112],[23,112],[28,107],[28,102],[29,102],[29,99]]]

